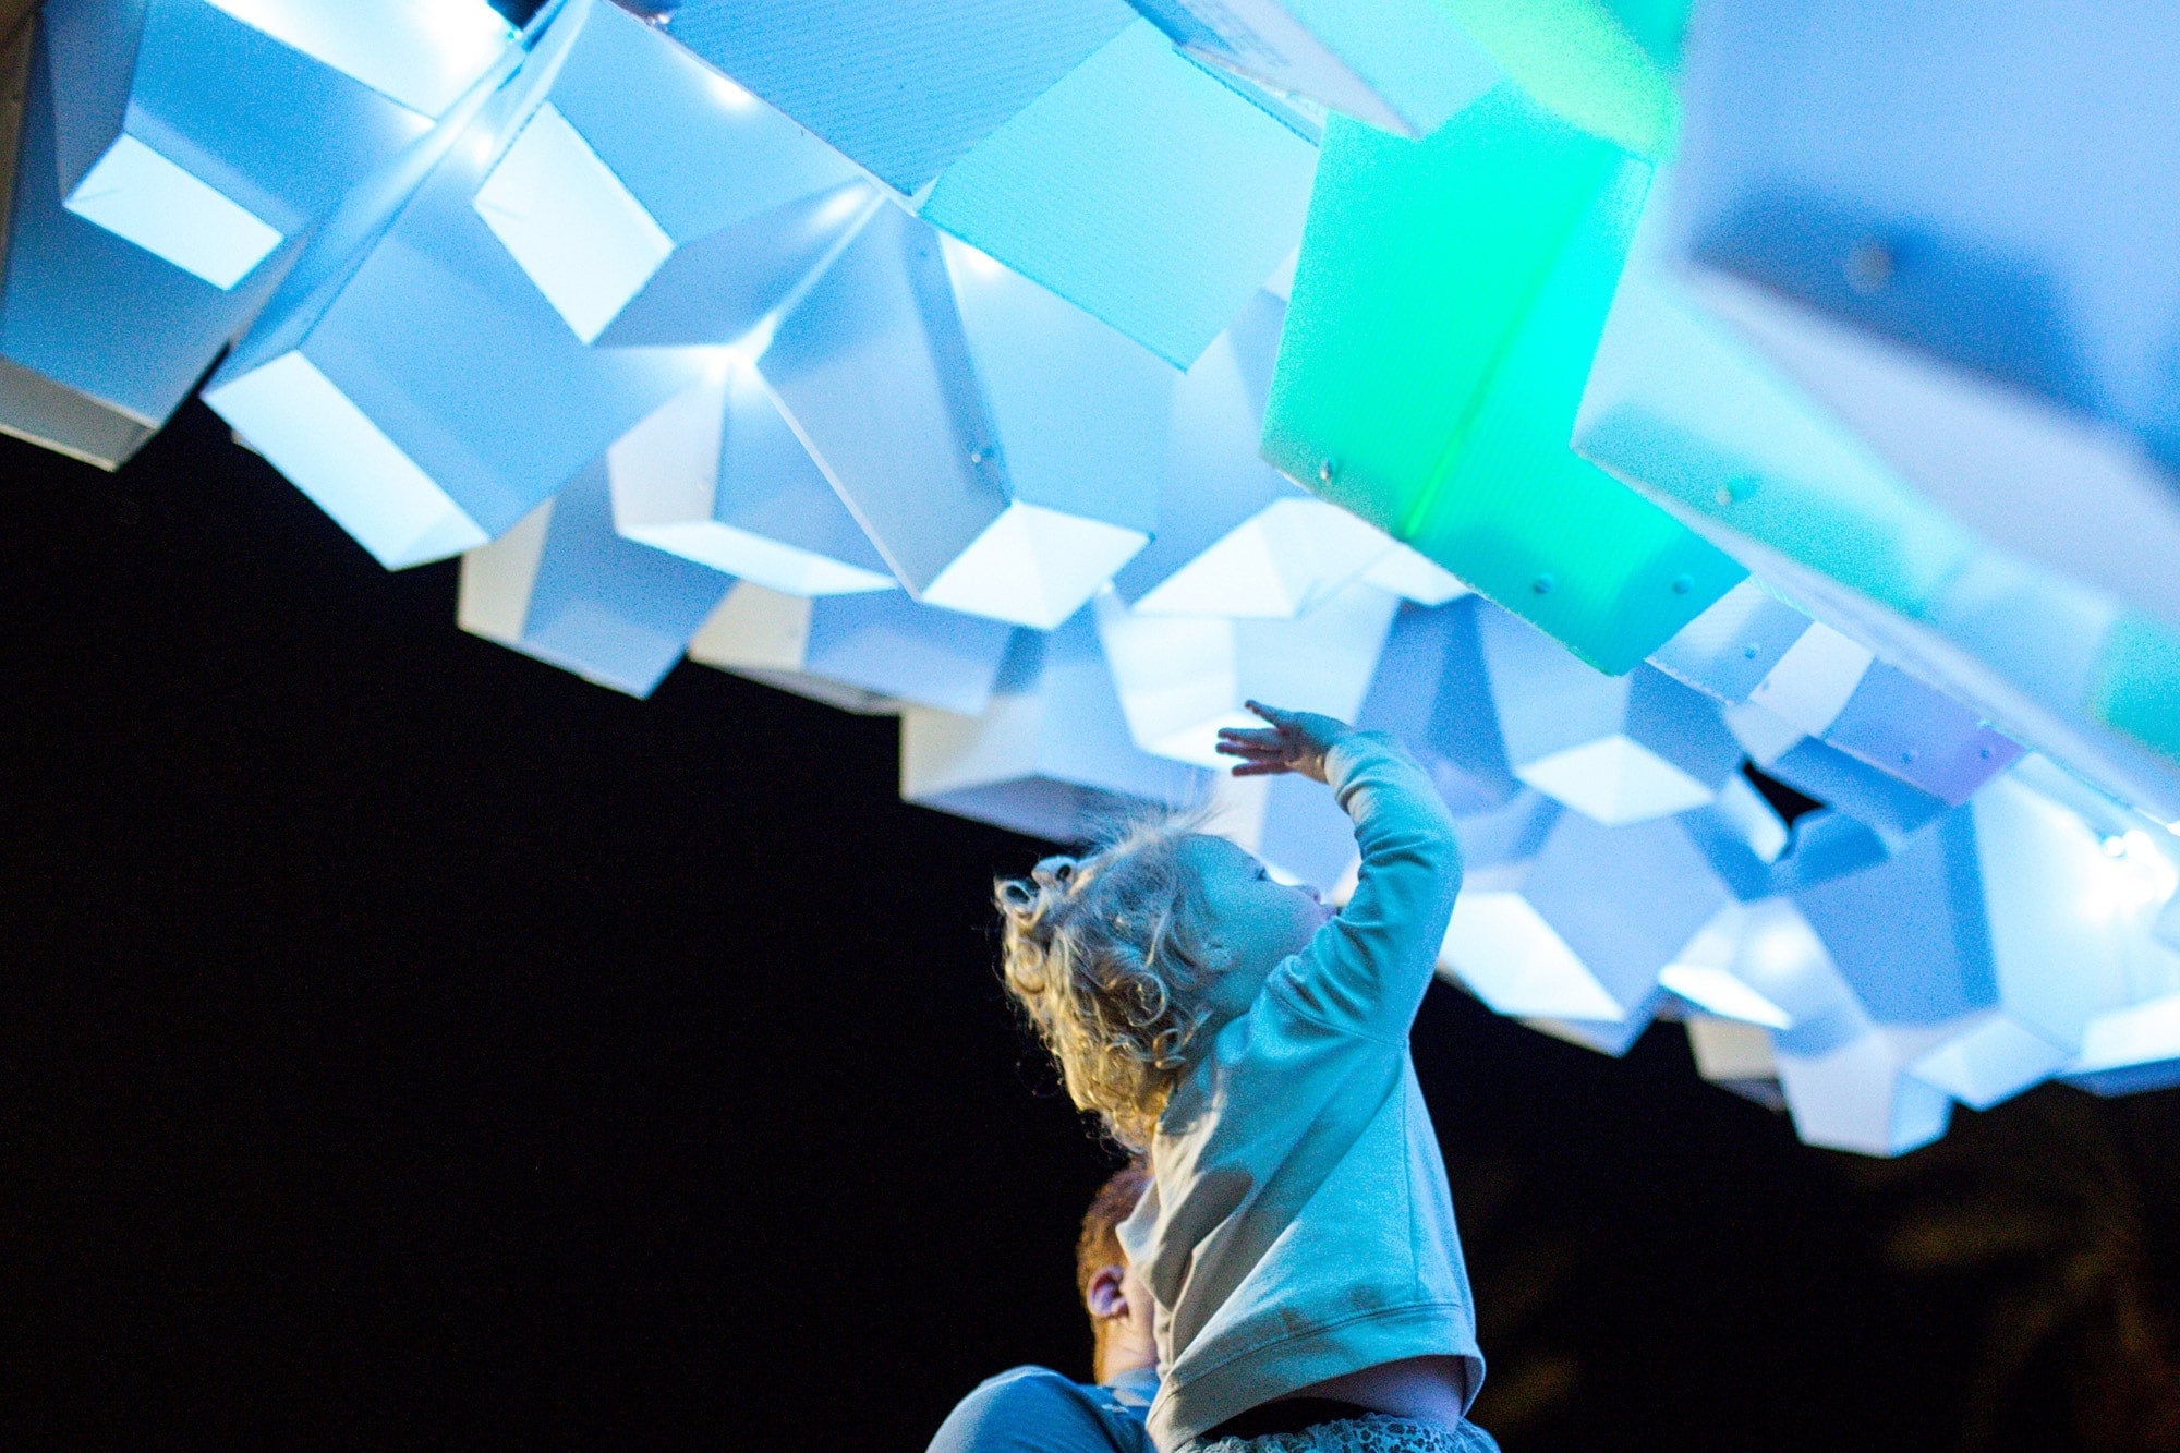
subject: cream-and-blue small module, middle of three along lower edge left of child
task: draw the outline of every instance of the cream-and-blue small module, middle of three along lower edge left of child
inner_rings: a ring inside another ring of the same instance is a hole
[[[809,598],[741,580],[689,641],[689,659],[855,711],[979,716],[1014,635],[900,591]]]

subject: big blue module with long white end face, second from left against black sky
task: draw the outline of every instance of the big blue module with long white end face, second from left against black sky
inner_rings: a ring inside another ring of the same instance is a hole
[[[711,367],[586,347],[473,205],[589,17],[560,9],[510,79],[358,188],[205,388],[388,567],[497,539]]]

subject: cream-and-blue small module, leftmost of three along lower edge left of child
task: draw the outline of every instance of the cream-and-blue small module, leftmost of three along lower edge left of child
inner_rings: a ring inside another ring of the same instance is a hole
[[[462,631],[650,696],[732,578],[621,539],[604,465],[462,556]]]

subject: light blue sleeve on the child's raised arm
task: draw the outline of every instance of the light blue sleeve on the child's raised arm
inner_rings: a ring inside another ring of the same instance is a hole
[[[1371,1038],[1406,1038],[1461,892],[1461,849],[1437,788],[1391,740],[1349,733],[1325,759],[1356,825],[1354,897],[1280,964],[1269,988],[1308,1017]]]

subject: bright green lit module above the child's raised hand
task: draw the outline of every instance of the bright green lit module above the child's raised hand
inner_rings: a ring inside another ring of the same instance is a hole
[[[1264,458],[1624,672],[1746,574],[1567,447],[1650,168],[1502,85],[1334,118]]]

